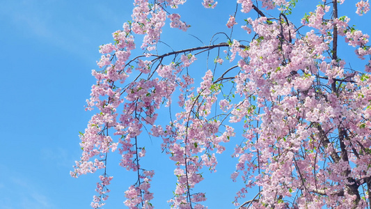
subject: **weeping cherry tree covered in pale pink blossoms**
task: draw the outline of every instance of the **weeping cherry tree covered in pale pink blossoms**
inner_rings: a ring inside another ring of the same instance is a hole
[[[97,113],[80,134],[82,156],[71,171],[76,178],[102,173],[91,206],[108,198],[113,176],[106,162],[113,152],[137,175],[125,205],[155,207],[156,168],[140,161],[150,135],[162,140],[159,152],[174,163],[173,208],[206,208],[207,195],[194,188],[204,170],[216,169],[226,143],[235,144],[238,159],[231,183],[242,179],[237,208],[371,208],[371,48],[369,36],[338,14],[344,1],[323,0],[299,22],[293,14],[304,2],[237,0],[225,17],[230,35],[161,54],[168,22],[189,29],[176,13],[187,2],[134,0],[132,20],[100,47],[86,107]],[[356,10],[345,10],[361,16],[370,10],[368,0],[354,4]],[[200,6],[218,5],[203,0]],[[347,53],[363,68],[338,55],[340,42],[354,48]],[[203,54],[212,67],[192,68]],[[157,120],[159,109],[169,110],[169,121]],[[242,141],[232,140],[237,130]],[[246,199],[252,187],[258,192]]]

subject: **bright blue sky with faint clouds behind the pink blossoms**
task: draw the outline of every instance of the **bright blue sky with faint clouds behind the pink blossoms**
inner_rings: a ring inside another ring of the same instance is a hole
[[[216,32],[230,34],[225,24],[235,4],[220,1],[215,10],[206,10],[200,2],[186,3],[179,10],[181,14],[192,11],[183,15],[191,24],[187,33],[164,29],[163,40],[173,49],[202,45],[189,34],[205,44]],[[298,6],[314,10],[316,4],[310,7],[299,2]],[[111,33],[121,29],[131,13],[132,1],[128,0],[1,1],[1,208],[90,208],[101,173],[78,179],[69,174],[74,160],[81,155],[79,131],[84,131],[93,114],[84,111],[90,86],[95,82],[90,72],[97,69],[98,47],[112,42]],[[367,17],[370,20],[370,14]],[[363,29],[365,24],[356,22]],[[241,139],[236,140],[238,143]],[[161,154],[159,139],[145,143],[149,155],[145,164],[159,168],[152,184],[153,203],[156,208],[168,208],[166,200],[175,189],[175,167],[168,156]],[[236,142],[230,148],[233,144]],[[232,208],[230,202],[239,186],[229,179],[235,168],[231,152],[221,158],[218,172],[209,175],[205,171],[210,179],[198,187],[205,188],[209,208]],[[123,208],[123,192],[135,178],[118,167],[117,156],[111,156],[108,172],[114,178],[109,187],[111,198],[104,208]],[[253,196],[255,193],[251,193]]]

